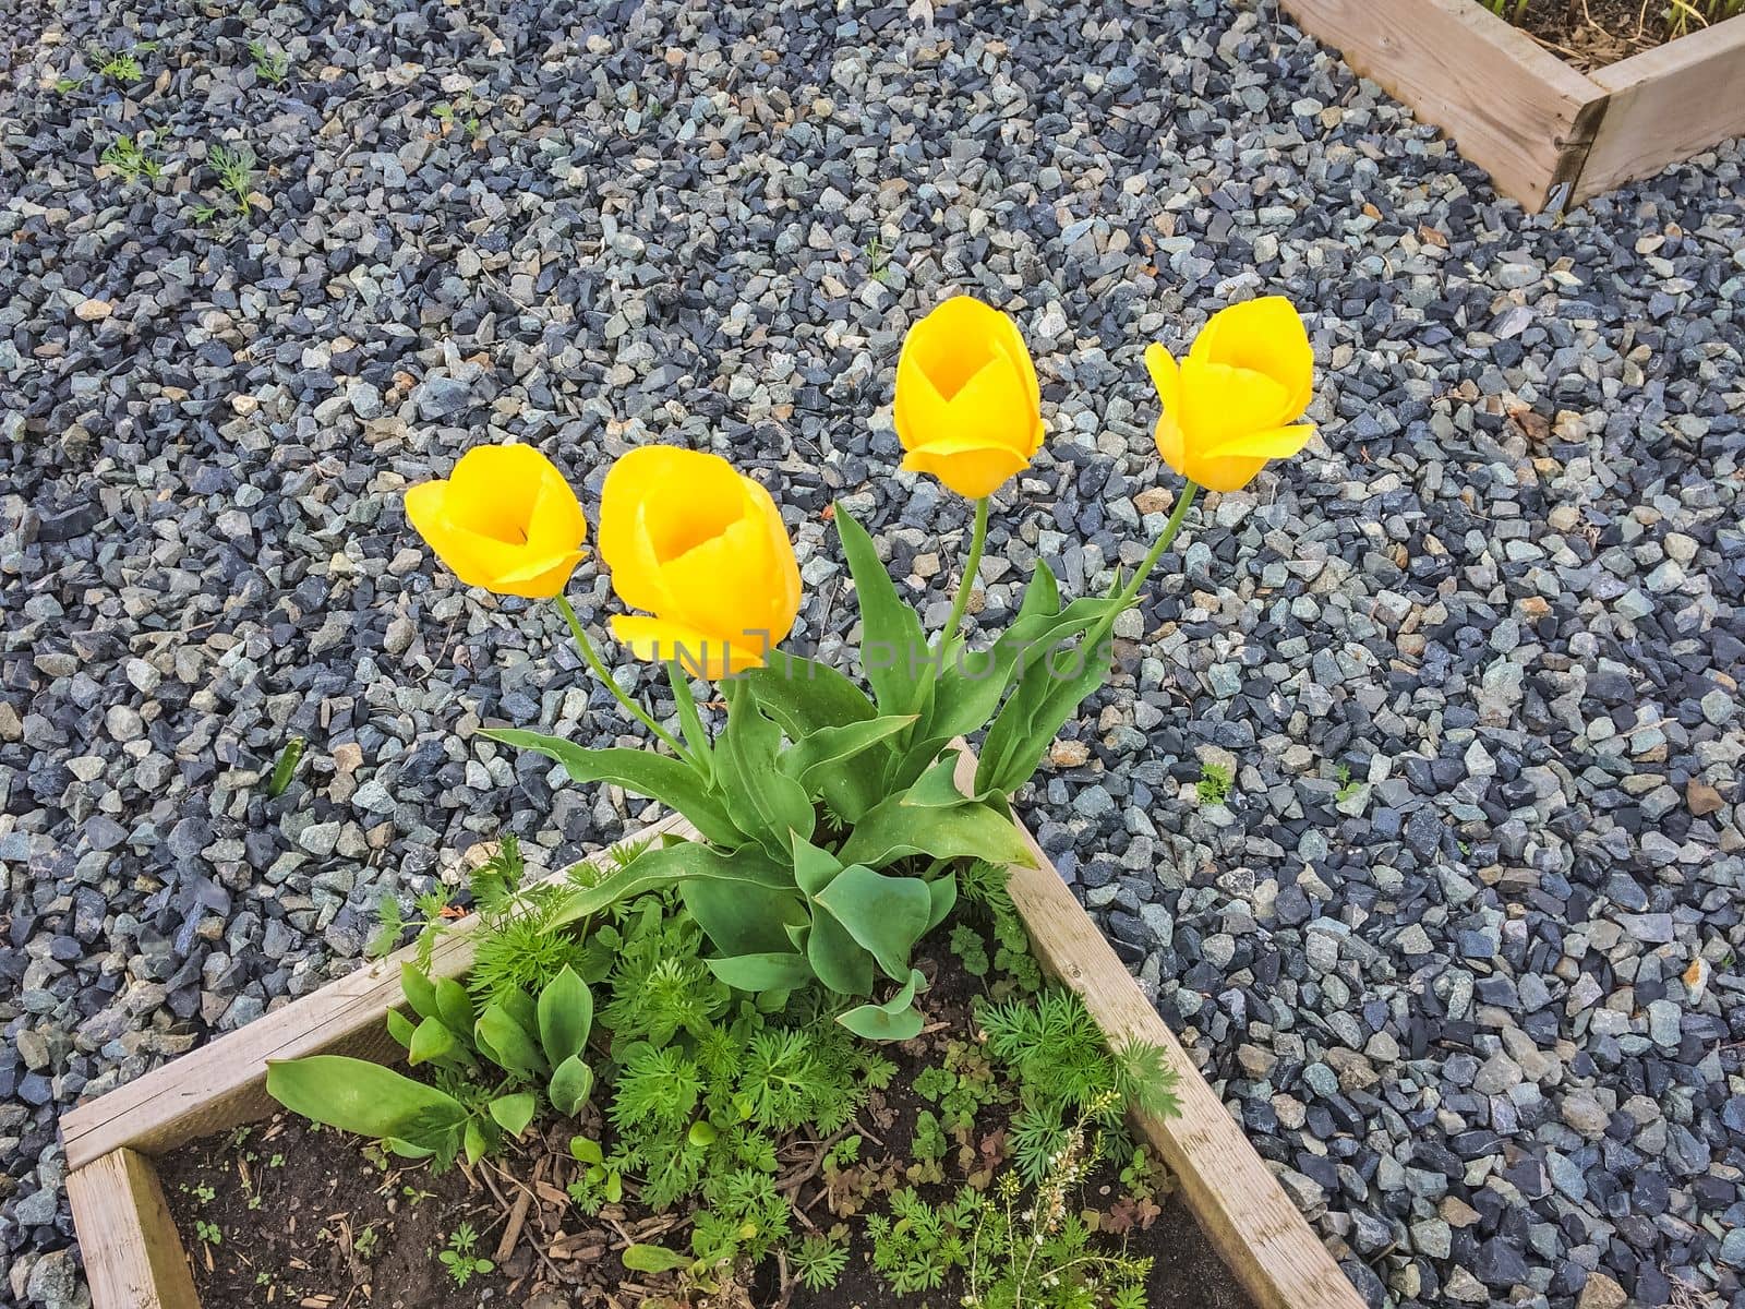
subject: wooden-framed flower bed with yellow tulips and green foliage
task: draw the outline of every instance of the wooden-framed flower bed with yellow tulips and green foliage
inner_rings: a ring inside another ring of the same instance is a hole
[[[867,532],[836,513],[867,689],[778,648],[803,597],[764,487],[712,454],[623,456],[600,492],[600,555],[640,613],[611,628],[665,667],[672,724],[612,677],[562,595],[586,518],[544,456],[480,447],[414,487],[408,518],[462,581],[553,600],[656,742],[489,728],[480,749],[537,752],[572,782],[661,801],[684,827],[530,885],[504,841],[462,901],[424,897],[412,922],[384,906],[384,948],[417,935],[398,986],[347,979],[161,1086],[72,1115],[87,1237],[113,1204],[99,1180],[134,1180],[117,1225],[140,1239],[92,1243],[94,1285],[143,1279],[194,1302],[162,1258],[180,1243],[208,1309],[326,1304],[372,1285],[387,1239],[384,1271],[410,1309],[576,1288],[600,1304],[845,1304],[838,1285],[892,1306],[1143,1309],[1195,1292],[1150,1234],[1157,1147],[1256,1304],[1352,1302],[1010,808],[1108,675],[1113,623],[1197,490],[1237,489],[1312,435],[1291,424],[1312,377],[1283,300],[1227,309],[1185,360],[1153,346],[1146,365],[1159,452],[1187,476],[1167,522],[1101,595],[1063,602],[1038,560],[1016,621],[972,649],[960,628],[989,497],[1044,438],[1040,389],[1016,325],[988,305],[958,297],[916,325],[897,429],[911,468],[975,501],[975,529],[928,639]],[[961,744],[977,731],[979,757]],[[1038,960],[1066,986],[1045,984]],[[260,1086],[297,1121],[211,1140],[270,1110]],[[307,1166],[304,1121],[347,1133],[321,1140],[325,1169]],[[168,1162],[180,1237],[141,1147],[190,1147]],[[279,1173],[286,1150],[298,1162]],[[325,1173],[346,1190],[323,1189]],[[220,1194],[241,1211],[220,1213]],[[316,1230],[262,1241],[248,1215],[269,1194]],[[323,1248],[326,1265],[311,1264]]]

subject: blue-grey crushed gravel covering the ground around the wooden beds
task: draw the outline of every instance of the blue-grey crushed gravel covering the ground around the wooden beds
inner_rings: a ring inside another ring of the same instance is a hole
[[[1307,311],[1323,435],[1195,510],[1024,808],[1363,1295],[1745,1306],[1738,145],[1523,216],[1272,5],[318,9],[5,37],[14,1300],[87,1304],[58,1112],[356,967],[473,843],[646,817],[469,740],[635,733],[401,489],[515,436],[592,504],[630,445],[710,447],[780,487],[797,644],[850,621],[832,497],[939,621],[968,515],[892,473],[886,405],[960,288],[1050,421],[993,621],[1160,527],[1146,340]],[[157,45],[115,86],[92,42]],[[154,187],[98,176],[119,134]]]

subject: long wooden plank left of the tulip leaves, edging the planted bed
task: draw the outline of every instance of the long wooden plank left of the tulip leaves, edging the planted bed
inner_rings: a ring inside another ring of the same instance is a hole
[[[672,815],[639,833],[639,840],[658,833],[689,836],[691,827]],[[553,873],[551,880],[562,876]],[[433,976],[457,977],[473,967],[475,925],[461,920],[443,935],[431,956]],[[267,1117],[277,1108],[267,1094],[267,1059],[316,1052],[384,1061],[398,1056],[384,1016],[401,1004],[400,965],[412,956],[408,946],[70,1110],[61,1117],[68,1166],[84,1168],[122,1147],[164,1154]]]

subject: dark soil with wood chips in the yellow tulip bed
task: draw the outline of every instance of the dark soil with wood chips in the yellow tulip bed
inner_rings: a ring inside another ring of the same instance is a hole
[[[780,1185],[794,1199],[799,1234],[829,1230],[855,1211],[881,1210],[892,1190],[911,1182],[916,1115],[934,1108],[911,1089],[914,1077],[942,1061],[946,1042],[965,1040],[970,1005],[981,991],[981,983],[946,958],[949,967],[920,962],[935,979],[925,1000],[928,1030],[885,1049],[899,1072],[890,1089],[874,1093],[846,1129],[862,1136],[859,1164],[827,1176],[820,1161],[834,1138],[784,1145]],[[998,1166],[1009,1114],[998,1105],[982,1108],[975,1131],[951,1143],[942,1162],[944,1182],[914,1178],[916,1189],[944,1203],[972,1169]],[[576,1173],[567,1152],[571,1134],[578,1129],[602,1134],[595,1112],[590,1108],[586,1115],[592,1121],[551,1124],[543,1138],[529,1136],[513,1154],[478,1169],[457,1166],[447,1175],[384,1161],[373,1150],[365,1152],[356,1138],[293,1119],[276,1119],[246,1136],[211,1136],[174,1152],[161,1162],[161,1171],[171,1213],[192,1253],[202,1309],[679,1304],[661,1299],[672,1290],[668,1278],[630,1278],[619,1262],[632,1241],[684,1246],[688,1234],[679,1218],[651,1215],[635,1203],[606,1206],[599,1218],[586,1218],[564,1192]],[[1124,1227],[1127,1253],[1153,1258],[1152,1309],[1251,1309],[1194,1216],[1166,1192],[1162,1182],[1155,1204],[1136,1204],[1126,1197],[1115,1171],[1103,1168],[1085,1183],[1080,1208],[1103,1215],[1105,1225]],[[201,1239],[201,1222],[218,1225],[218,1244]],[[461,1223],[478,1232],[475,1253],[497,1262],[496,1271],[475,1276],[464,1288],[438,1262]],[[850,1230],[859,1232],[860,1223],[850,1222]],[[784,1271],[771,1258],[747,1286],[693,1304],[775,1309],[784,1304],[782,1281]],[[872,1269],[871,1243],[852,1241],[848,1269],[834,1290],[813,1293],[790,1285],[787,1293],[785,1309],[949,1309],[960,1302],[961,1288],[948,1283],[925,1297],[899,1299]]]

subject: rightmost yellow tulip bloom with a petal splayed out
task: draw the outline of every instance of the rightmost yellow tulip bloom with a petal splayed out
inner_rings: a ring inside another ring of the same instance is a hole
[[[1164,415],[1157,452],[1208,490],[1239,490],[1269,459],[1297,454],[1314,436],[1302,417],[1314,394],[1314,351],[1283,295],[1220,309],[1180,365],[1146,346]]]

